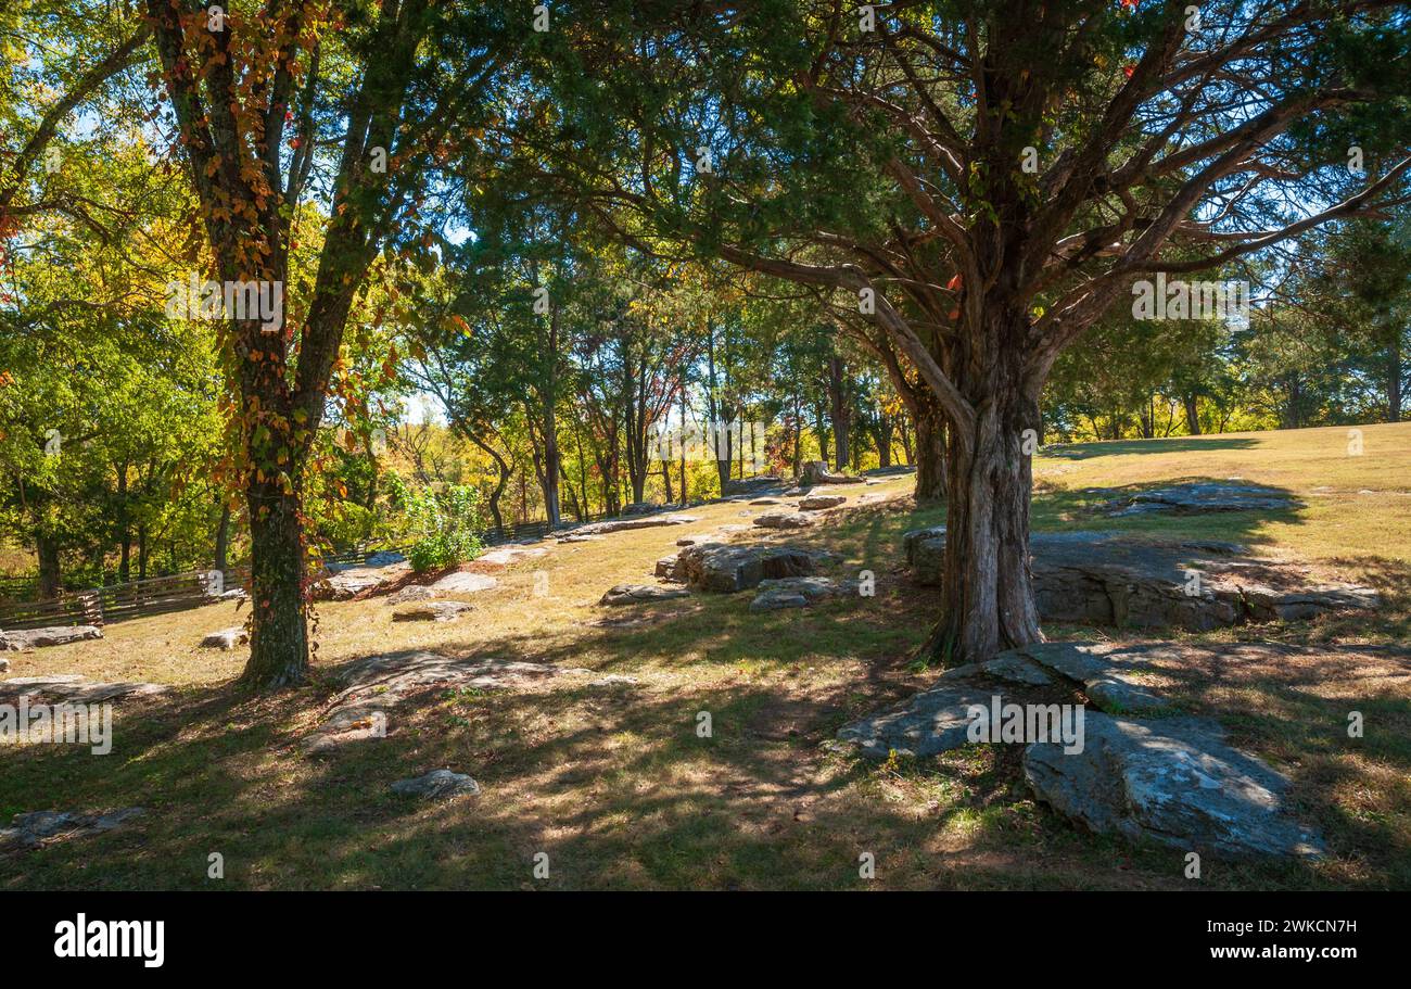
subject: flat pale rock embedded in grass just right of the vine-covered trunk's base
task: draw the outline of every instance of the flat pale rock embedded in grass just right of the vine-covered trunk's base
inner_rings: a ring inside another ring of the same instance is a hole
[[[329,703],[323,721],[301,742],[310,755],[330,752],[365,738],[382,738],[388,731],[388,712],[408,694],[432,686],[502,690],[525,687],[563,673],[590,670],[519,663],[504,659],[442,656],[433,652],[398,652],[368,656],[337,672],[344,684]]]

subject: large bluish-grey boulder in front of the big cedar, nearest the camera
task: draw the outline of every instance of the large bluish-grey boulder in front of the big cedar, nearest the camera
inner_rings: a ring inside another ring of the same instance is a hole
[[[1129,721],[1089,711],[1084,748],[1024,749],[1024,779],[1058,813],[1099,832],[1228,856],[1316,855],[1288,815],[1288,780],[1225,744],[1206,718]]]

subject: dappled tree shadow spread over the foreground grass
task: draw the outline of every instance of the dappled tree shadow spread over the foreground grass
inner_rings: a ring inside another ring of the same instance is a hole
[[[841,724],[928,679],[903,663],[938,598],[897,574],[902,532],[940,511],[864,506],[840,518],[827,543],[844,553],[841,567],[875,570],[875,598],[756,615],[749,594],[700,595],[686,607],[626,609],[666,612],[650,625],[473,646],[476,656],[562,666],[591,655],[601,673],[638,676],[635,687],[433,687],[395,708],[388,738],[323,759],[302,756],[296,742],[315,727],[329,683],[272,697],[182,690],[120,707],[110,756],[63,746],[7,753],[0,810],[138,804],[148,815],[6,856],[0,887],[847,889],[866,885],[864,852],[876,856],[885,886],[1182,885],[1180,852],[1088,835],[1037,806],[1017,749],[971,746],[878,766],[825,748]],[[1404,594],[1411,571],[1388,567],[1386,581]],[[1187,704],[1225,715],[1235,741],[1292,767],[1308,817],[1329,831],[1339,862],[1353,862],[1332,872],[1230,863],[1208,885],[1411,879],[1405,701],[1381,686],[1359,693],[1349,662],[1170,672]],[[1316,694],[1329,680],[1356,694],[1369,720],[1359,751],[1335,731],[1350,701]],[[708,738],[697,734],[703,711]],[[388,790],[437,767],[471,773],[483,794],[426,804]],[[1349,801],[1346,791],[1369,780],[1370,804]],[[206,879],[212,852],[224,856],[224,883]],[[532,878],[538,852],[549,855],[545,880]]]

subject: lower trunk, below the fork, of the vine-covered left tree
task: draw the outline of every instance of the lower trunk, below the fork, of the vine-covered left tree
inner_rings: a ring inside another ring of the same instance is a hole
[[[241,680],[254,687],[288,687],[309,672],[303,600],[303,530],[299,492],[274,480],[251,480],[250,506],[250,662]]]

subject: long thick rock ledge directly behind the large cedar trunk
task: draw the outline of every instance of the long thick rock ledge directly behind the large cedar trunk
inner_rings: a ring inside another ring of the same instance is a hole
[[[913,578],[940,584],[945,528],[916,529],[903,545]],[[1381,604],[1369,587],[1316,580],[1297,563],[1252,560],[1235,543],[1036,532],[1030,550],[1044,621],[1205,632]]]

